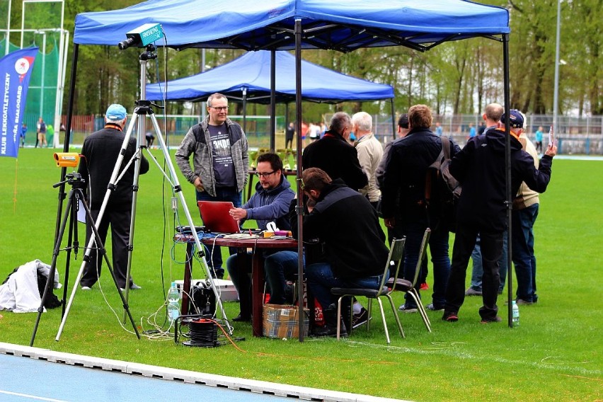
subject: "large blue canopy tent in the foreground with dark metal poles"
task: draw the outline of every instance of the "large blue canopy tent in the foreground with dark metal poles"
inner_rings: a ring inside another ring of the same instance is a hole
[[[186,47],[271,50],[272,67],[275,64],[276,50],[295,50],[297,132],[301,131],[302,121],[302,49],[351,52],[360,47],[406,46],[425,51],[450,40],[477,37],[497,40],[503,44],[504,103],[505,113],[509,113],[510,29],[509,13],[505,8],[464,0],[382,0],[378,3],[366,0],[149,0],[121,10],[81,13],[76,16],[68,125],[73,104],[78,46],[116,45],[125,38],[125,33],[144,23],[161,23],[168,38],[165,45],[178,50]],[[272,79],[272,84],[274,81]],[[272,90],[272,108],[275,96],[275,91]],[[64,147],[67,151],[67,136]],[[302,148],[301,138],[298,138],[297,147]],[[298,156],[297,166],[301,167],[301,154]],[[507,220],[510,232],[511,167],[508,141],[506,171]],[[297,190],[298,193],[302,191],[299,185]],[[302,197],[298,198],[298,202],[298,209],[302,211]],[[301,212],[298,220],[301,228]],[[302,240],[300,231],[300,253]],[[508,272],[511,275],[510,269]],[[300,277],[302,273],[300,260]],[[510,285],[511,280],[507,283]],[[301,297],[300,294],[300,299]],[[511,287],[509,297],[512,297]],[[301,326],[301,304],[299,309]],[[509,325],[512,326],[510,319]],[[303,340],[302,331],[299,336]]]

